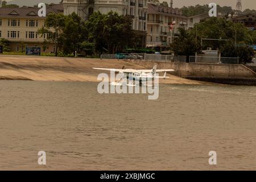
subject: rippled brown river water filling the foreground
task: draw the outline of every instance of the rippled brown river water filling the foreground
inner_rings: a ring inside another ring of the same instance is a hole
[[[255,86],[160,84],[148,100],[97,84],[0,81],[0,169],[256,169]]]

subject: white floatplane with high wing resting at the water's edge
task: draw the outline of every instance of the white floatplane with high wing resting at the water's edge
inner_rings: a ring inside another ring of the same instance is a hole
[[[114,68],[93,68],[114,73],[121,73],[121,78],[118,82],[111,82],[110,85],[136,86],[137,84],[144,84],[147,80],[154,80],[155,78],[169,78],[166,76],[167,72],[174,72],[174,69],[156,69],[157,64],[152,69],[114,69]],[[123,67],[124,68],[124,67]],[[158,76],[156,73],[164,72],[164,76]],[[127,79],[129,84],[127,84]]]

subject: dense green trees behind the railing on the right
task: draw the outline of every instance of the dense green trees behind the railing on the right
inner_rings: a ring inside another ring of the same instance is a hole
[[[255,44],[255,32],[243,24],[213,17],[195,24],[192,30],[179,28],[171,48],[176,55],[193,56],[211,47],[219,49],[223,57],[240,57],[241,63],[247,63],[251,62],[254,51],[246,45]]]

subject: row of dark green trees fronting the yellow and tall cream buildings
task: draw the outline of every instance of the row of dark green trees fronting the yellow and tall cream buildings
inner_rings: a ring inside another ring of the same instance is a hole
[[[115,53],[126,47],[136,47],[138,34],[131,27],[129,16],[93,13],[85,22],[75,13],[48,14],[46,26],[39,28],[41,36],[47,36],[44,48],[49,42],[55,43],[55,55],[83,52],[85,55]]]

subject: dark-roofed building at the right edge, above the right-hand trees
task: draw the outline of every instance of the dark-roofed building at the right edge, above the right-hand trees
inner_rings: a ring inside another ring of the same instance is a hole
[[[256,30],[256,14],[254,13],[237,15],[234,16],[232,20],[234,23],[243,23],[245,27]]]

